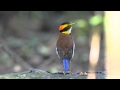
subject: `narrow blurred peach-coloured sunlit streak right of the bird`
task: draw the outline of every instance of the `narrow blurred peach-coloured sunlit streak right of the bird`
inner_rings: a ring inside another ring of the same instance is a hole
[[[88,79],[95,79],[95,69],[99,59],[100,52],[100,35],[98,31],[94,31],[91,39],[90,55],[89,55],[89,74]]]

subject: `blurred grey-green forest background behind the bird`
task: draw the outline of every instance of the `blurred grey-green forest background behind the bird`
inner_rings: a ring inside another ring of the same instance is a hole
[[[0,74],[30,68],[62,71],[56,55],[61,23],[77,22],[72,29],[76,44],[71,60],[73,73],[88,71],[91,45],[97,45],[96,70],[104,71],[103,12],[97,11],[0,11]],[[97,31],[98,44],[92,44]]]

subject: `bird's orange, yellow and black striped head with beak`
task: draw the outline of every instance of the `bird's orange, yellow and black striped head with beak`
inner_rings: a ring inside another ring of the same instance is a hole
[[[59,31],[63,34],[71,34],[72,26],[76,23],[64,22],[60,25]]]

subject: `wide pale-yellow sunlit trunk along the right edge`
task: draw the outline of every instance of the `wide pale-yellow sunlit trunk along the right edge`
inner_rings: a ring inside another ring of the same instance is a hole
[[[105,11],[107,79],[120,78],[120,11]]]

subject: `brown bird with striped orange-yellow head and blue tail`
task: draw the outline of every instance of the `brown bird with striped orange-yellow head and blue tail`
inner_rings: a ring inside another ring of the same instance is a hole
[[[63,73],[71,73],[71,59],[74,56],[75,43],[71,34],[76,23],[64,22],[59,26],[59,37],[56,43],[56,54],[63,64]]]

